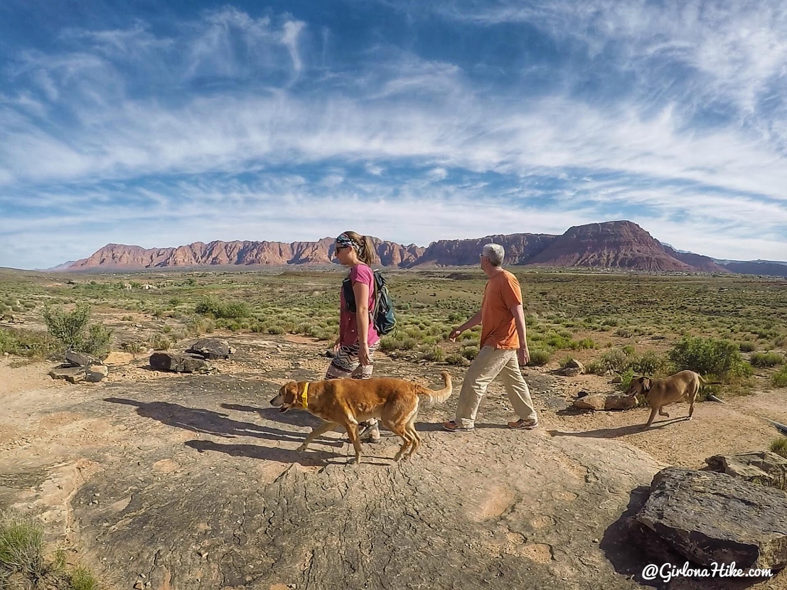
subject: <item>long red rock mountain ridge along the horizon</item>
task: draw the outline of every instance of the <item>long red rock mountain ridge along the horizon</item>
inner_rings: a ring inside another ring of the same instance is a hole
[[[619,268],[631,271],[745,273],[787,276],[787,265],[771,262],[719,264],[709,256],[674,249],[626,220],[570,227],[562,235],[495,234],[483,238],[439,240],[423,248],[372,238],[385,267],[448,267],[478,264],[482,246],[504,246],[506,264],[545,267]],[[131,271],[167,267],[286,266],[333,264],[334,239],[316,242],[194,242],[145,249],[107,244],[91,256],[51,271]]]

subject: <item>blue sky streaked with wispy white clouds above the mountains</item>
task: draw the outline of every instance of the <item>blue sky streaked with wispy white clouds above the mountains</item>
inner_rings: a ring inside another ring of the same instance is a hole
[[[787,7],[0,2],[0,266],[630,219],[787,259]]]

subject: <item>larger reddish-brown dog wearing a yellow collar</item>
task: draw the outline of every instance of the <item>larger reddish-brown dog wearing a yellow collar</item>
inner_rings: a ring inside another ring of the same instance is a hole
[[[279,411],[302,407],[324,420],[323,424],[309,433],[298,451],[305,451],[320,434],[342,426],[355,448],[355,462],[360,463],[358,422],[378,418],[382,426],[401,437],[401,448],[393,458],[398,461],[412,455],[421,443],[414,426],[419,397],[423,396],[430,404],[434,404],[447,400],[451,395],[451,375],[447,371],[441,374],[445,387],[439,391],[395,378],[290,382],[282,385],[279,395],[271,400],[271,404],[279,406]],[[405,455],[408,447],[409,452]]]

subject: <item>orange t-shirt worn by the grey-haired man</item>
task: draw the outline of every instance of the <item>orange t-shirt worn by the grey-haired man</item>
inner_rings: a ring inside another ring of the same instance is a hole
[[[481,304],[481,346],[519,348],[519,334],[511,308],[522,304],[519,281],[508,271],[490,278]]]

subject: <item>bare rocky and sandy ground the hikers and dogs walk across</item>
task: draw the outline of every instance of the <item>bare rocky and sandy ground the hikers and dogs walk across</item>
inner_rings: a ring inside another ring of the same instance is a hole
[[[459,367],[449,402],[420,412],[410,461],[394,464],[398,439],[383,436],[353,466],[340,433],[296,452],[318,421],[268,404],[284,382],[321,378],[321,345],[254,336],[229,337],[238,352],[211,374],[159,373],[140,357],[69,385],[47,376],[52,363],[0,360],[0,507],[39,514],[49,540],[109,588],[641,588],[648,555],[625,517],[653,475],[763,450],[777,433],[762,417],[787,422],[778,393],[759,393],[700,404],[691,422],[677,404],[644,431],[646,409],[568,407],[580,389],[611,389],[604,378],[527,370],[538,430],[505,427],[495,383],[475,433],[445,433]],[[375,366],[430,386],[441,369]],[[764,590],[787,578],[660,587]]]

